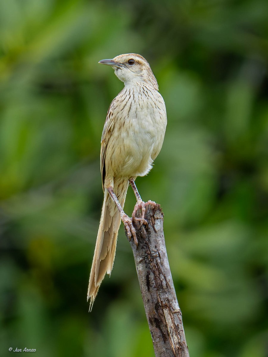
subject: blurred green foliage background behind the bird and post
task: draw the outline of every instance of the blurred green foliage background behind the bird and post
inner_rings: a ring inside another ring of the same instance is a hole
[[[154,356],[122,228],[86,302],[123,87],[98,61],[138,52],[168,126],[137,186],[165,213],[190,356],[268,356],[267,0],[0,0],[0,38],[0,355]]]

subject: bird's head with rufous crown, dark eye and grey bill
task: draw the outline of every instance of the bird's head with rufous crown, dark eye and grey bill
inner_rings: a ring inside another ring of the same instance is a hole
[[[157,80],[145,58],[136,53],[119,55],[109,60],[101,60],[99,63],[112,66],[115,75],[125,85],[149,84],[158,90]]]

